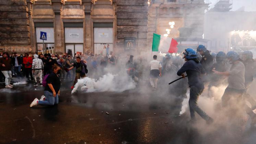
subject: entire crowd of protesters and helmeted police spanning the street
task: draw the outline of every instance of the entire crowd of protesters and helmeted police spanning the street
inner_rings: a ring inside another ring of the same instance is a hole
[[[182,61],[182,58],[185,61]],[[128,61],[127,61],[128,60]],[[158,61],[160,60],[160,61]],[[119,62],[120,61],[120,62]],[[124,62],[126,61],[126,62]],[[180,55],[154,55],[150,63],[146,58],[137,57],[134,60],[133,55],[127,55],[126,58],[118,58],[112,52],[103,56],[82,54],[77,52],[75,56],[54,54],[37,54],[29,56],[28,53],[17,55],[13,53],[1,53],[0,55],[0,70],[1,80],[5,77],[5,88],[12,88],[10,83],[12,76],[34,82],[37,86],[37,78],[39,85],[43,86],[43,78],[49,77],[46,80],[45,95],[40,100],[37,98],[31,103],[31,107],[42,105],[53,105],[58,103],[58,95],[60,94],[61,80],[74,80],[71,89],[74,88],[77,80],[86,77],[88,69],[93,73],[104,71],[107,66],[114,69],[115,67],[123,68],[124,66],[128,76],[135,82],[143,79],[145,71],[150,71],[147,75],[153,91],[157,89],[159,77],[165,77],[175,72],[178,76],[188,78],[188,86],[190,88],[189,108],[191,120],[196,121],[195,112],[198,113],[208,124],[214,120],[208,116],[198,105],[198,97],[208,87],[208,96],[212,96],[211,87],[218,87],[225,82],[227,77],[228,87],[222,96],[222,106],[239,105],[252,118],[252,123],[256,123],[256,114],[253,110],[256,108],[254,98],[248,94],[255,74],[256,62],[253,59],[251,51],[237,53],[230,51],[227,54],[224,52],[210,53],[204,45],[199,45],[197,50],[185,49]],[[126,63],[125,65],[123,65]],[[145,65],[149,65],[146,67]],[[118,70],[118,69],[116,69]],[[92,73],[91,73],[92,74]],[[104,73],[100,73],[102,76]],[[184,87],[184,84],[183,86]],[[186,91],[187,88],[185,88]],[[245,101],[251,103],[252,107],[248,107]]]

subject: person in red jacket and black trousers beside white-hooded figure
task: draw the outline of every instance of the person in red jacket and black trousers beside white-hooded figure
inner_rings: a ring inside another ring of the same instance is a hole
[[[25,75],[26,75],[26,78],[27,78],[27,81],[30,81],[29,80],[29,75],[30,75],[30,78],[31,78],[31,81],[34,81],[33,80],[33,74],[32,74],[32,57],[30,57],[28,55],[28,53],[25,53],[25,57],[23,58],[23,64],[24,64],[24,71],[25,71]]]

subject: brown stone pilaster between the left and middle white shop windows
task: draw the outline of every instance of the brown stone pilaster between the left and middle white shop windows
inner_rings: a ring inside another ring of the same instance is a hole
[[[56,54],[63,54],[65,49],[62,45],[62,27],[61,10],[63,0],[51,0],[54,12],[54,52]]]

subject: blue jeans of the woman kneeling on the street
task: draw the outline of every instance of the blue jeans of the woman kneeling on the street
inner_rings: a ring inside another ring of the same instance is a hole
[[[45,101],[38,101],[39,105],[54,105],[59,103],[59,97],[58,94],[56,94],[55,97],[53,97],[53,93],[49,91],[44,91],[45,93]]]

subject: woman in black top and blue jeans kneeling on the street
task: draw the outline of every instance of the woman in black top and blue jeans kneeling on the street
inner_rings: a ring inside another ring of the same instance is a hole
[[[47,77],[47,86],[45,87],[45,95],[41,96],[41,99],[38,100],[37,98],[30,104],[30,107],[36,105],[54,105],[59,103],[60,94],[60,67],[55,65],[53,67],[53,73],[51,73]]]

